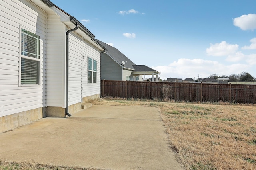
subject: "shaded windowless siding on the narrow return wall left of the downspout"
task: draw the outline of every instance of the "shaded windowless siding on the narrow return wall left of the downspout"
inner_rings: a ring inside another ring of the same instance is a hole
[[[66,107],[66,26],[47,14],[47,106]]]

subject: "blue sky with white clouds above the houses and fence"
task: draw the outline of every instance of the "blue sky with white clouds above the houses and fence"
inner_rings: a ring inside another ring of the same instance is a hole
[[[160,78],[256,77],[255,0],[51,0]]]

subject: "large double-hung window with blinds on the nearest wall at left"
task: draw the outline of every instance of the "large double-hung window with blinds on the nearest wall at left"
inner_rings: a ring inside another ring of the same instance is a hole
[[[21,29],[20,84],[39,84],[40,36]]]

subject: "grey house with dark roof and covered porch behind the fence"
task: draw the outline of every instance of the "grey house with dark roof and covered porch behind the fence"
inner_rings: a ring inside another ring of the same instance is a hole
[[[160,75],[160,72],[148,66],[136,65],[115,47],[97,41],[107,49],[101,55],[101,80],[143,81],[144,75],[152,75],[152,78]]]

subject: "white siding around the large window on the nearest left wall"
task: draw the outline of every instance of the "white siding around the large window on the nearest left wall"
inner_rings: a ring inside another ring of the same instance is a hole
[[[0,0],[0,116],[45,106],[46,13],[18,0]],[[19,86],[20,26],[40,35],[40,86]]]

